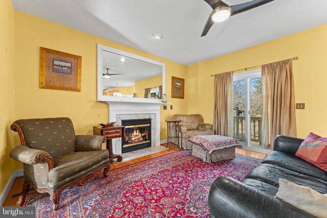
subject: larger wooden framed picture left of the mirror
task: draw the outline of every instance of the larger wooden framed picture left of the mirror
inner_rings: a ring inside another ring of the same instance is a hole
[[[40,88],[81,91],[82,57],[40,47]]]

